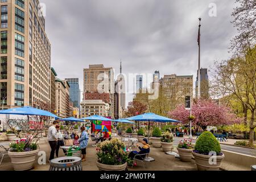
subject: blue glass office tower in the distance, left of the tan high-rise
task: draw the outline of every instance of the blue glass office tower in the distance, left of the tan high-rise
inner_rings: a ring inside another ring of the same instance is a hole
[[[79,78],[65,78],[70,85],[69,96],[70,101],[73,102],[74,107],[80,108],[80,88],[79,88]]]

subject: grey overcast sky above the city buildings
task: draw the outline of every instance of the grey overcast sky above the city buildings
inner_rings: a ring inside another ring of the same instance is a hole
[[[52,45],[52,67],[59,78],[79,77],[83,68],[104,64],[119,73],[160,76],[194,75],[197,71],[198,18],[201,67],[228,59],[236,35],[234,0],[41,0],[46,3],[46,31]],[[217,16],[210,17],[210,3]],[[132,100],[129,94],[126,102]]]

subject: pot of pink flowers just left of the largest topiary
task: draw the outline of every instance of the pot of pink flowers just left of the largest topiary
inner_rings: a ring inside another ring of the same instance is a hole
[[[192,140],[184,139],[181,140],[177,146],[177,151],[179,152],[180,160],[183,162],[191,162],[192,160]]]

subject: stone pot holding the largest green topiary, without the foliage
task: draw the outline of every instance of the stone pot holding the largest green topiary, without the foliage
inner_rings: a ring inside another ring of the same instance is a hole
[[[225,158],[224,154],[221,156],[202,155],[195,152],[192,152],[192,154],[195,157],[196,166],[199,171],[218,171],[220,170],[222,160]],[[215,163],[212,160],[214,157],[216,157]]]

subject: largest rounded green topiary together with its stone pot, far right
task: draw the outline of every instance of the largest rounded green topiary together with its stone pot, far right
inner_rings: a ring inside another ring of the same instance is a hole
[[[199,171],[218,171],[225,157],[221,152],[220,143],[209,131],[205,131],[199,136],[192,154]]]

